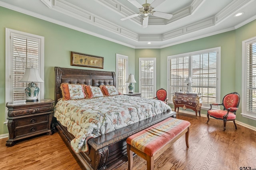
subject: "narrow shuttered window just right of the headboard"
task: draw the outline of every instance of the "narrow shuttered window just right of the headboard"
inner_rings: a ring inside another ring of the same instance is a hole
[[[127,88],[127,59],[128,56],[116,54],[116,87],[118,92],[126,93]]]

